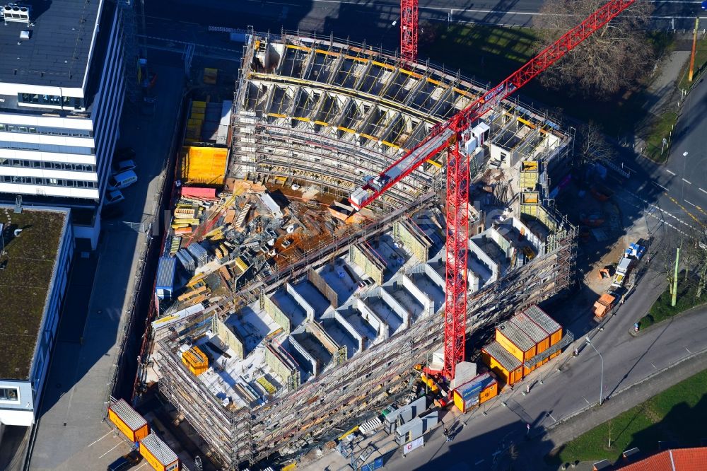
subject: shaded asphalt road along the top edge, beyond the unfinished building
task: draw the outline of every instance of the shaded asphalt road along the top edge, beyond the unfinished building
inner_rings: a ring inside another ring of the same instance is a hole
[[[699,1],[650,1],[655,5],[653,27],[689,29],[698,15]],[[542,0],[421,0],[421,22],[525,25],[537,16]],[[400,2],[396,0],[158,0],[146,2],[146,14],[199,25],[246,28],[279,33],[315,31],[322,35],[395,50],[399,44]],[[705,16],[707,18],[707,16]],[[160,35],[159,31],[148,34]]]

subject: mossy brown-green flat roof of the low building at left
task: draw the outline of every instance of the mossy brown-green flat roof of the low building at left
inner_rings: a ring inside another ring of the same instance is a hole
[[[0,207],[6,251],[0,264],[7,263],[0,269],[0,378],[29,378],[67,217],[62,210],[23,209],[15,214],[12,208]],[[14,237],[17,228],[23,231]]]

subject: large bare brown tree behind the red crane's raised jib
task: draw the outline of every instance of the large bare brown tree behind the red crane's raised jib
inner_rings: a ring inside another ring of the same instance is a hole
[[[605,0],[545,0],[533,25],[542,47],[577,25]],[[545,86],[569,94],[607,98],[636,83],[653,57],[645,34],[653,6],[636,2],[540,76]]]

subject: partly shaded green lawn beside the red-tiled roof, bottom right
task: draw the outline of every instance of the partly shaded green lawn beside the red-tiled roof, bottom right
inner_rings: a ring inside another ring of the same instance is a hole
[[[658,450],[658,441],[699,446],[707,437],[707,370],[651,397],[573,441],[554,450],[552,465],[580,461],[616,460],[621,452],[638,447],[643,453]],[[609,448],[609,433],[612,444]]]

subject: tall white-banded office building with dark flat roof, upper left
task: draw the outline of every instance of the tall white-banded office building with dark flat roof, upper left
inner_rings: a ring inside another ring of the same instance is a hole
[[[0,200],[71,207],[95,248],[124,99],[114,1],[0,3]]]

